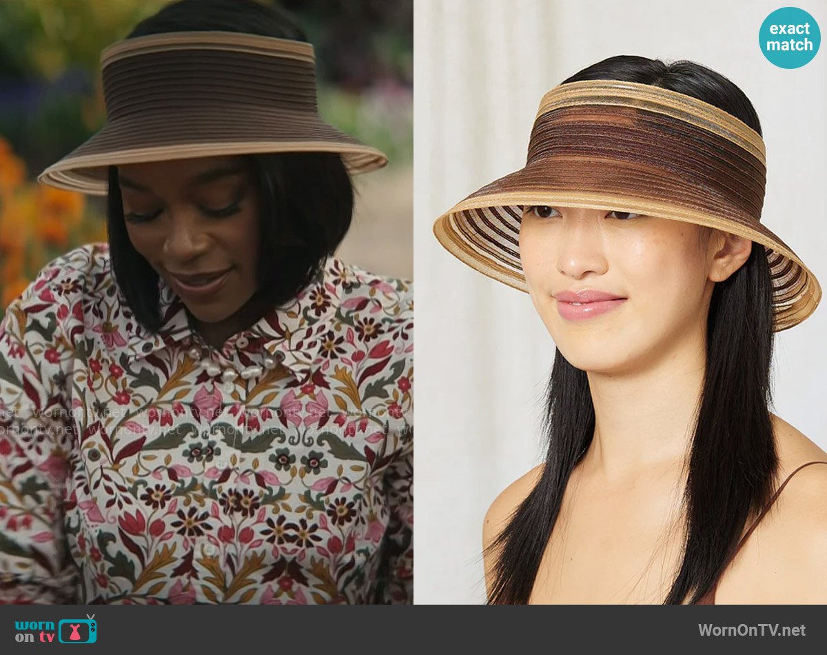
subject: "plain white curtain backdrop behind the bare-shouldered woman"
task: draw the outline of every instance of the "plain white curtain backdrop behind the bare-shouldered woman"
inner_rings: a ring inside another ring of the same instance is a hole
[[[437,216],[525,163],[543,93],[612,55],[694,60],[738,84],[767,143],[762,221],[827,289],[827,52],[779,69],[758,50],[777,2],[417,0],[414,275],[417,296],[417,603],[482,603],[481,526],[542,460],[554,345],[528,294],[443,251]],[[827,29],[827,2],[796,6]],[[822,48],[825,50],[827,48]],[[827,304],[827,302],[825,302]],[[775,411],[827,447],[827,307],[777,337]]]

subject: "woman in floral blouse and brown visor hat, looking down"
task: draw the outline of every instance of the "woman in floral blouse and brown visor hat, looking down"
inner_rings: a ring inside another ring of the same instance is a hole
[[[332,255],[385,158],[304,41],[184,0],[104,51],[107,126],[41,179],[109,243],[0,326],[0,601],[412,601],[413,294]]]

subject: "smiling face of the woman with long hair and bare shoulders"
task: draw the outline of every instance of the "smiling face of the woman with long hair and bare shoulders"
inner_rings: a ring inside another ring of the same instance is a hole
[[[557,347],[572,366],[606,373],[687,340],[702,348],[714,283],[750,246],[692,223],[582,208],[527,207],[519,233],[528,291]]]

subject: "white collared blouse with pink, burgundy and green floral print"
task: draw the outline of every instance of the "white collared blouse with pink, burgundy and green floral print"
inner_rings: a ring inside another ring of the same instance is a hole
[[[413,291],[336,257],[218,351],[107,244],[0,327],[0,601],[410,603]]]

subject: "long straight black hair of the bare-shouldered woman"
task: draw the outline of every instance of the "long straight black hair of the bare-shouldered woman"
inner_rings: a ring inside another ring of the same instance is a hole
[[[621,55],[562,84],[619,79],[672,89],[715,105],[761,133],[758,115],[729,79],[691,61]],[[695,603],[715,584],[750,513],[767,503],[778,457],[769,414],[772,284],[763,246],[715,284],[707,318],[706,367],[683,499],[686,537],[680,570],[664,604]],[[528,602],[560,512],[571,471],[589,447],[595,408],[585,371],[558,350],[547,385],[546,461],[533,490],[489,546],[495,557],[489,604]]]

